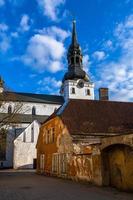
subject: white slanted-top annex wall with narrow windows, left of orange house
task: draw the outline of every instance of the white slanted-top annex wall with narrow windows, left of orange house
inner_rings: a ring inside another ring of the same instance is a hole
[[[13,166],[15,169],[33,168],[39,128],[40,124],[35,120],[14,140]]]

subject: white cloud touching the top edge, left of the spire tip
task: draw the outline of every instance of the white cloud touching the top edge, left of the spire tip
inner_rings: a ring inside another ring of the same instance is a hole
[[[65,0],[37,0],[40,7],[43,9],[45,16],[51,20],[58,20],[59,7],[65,3]]]

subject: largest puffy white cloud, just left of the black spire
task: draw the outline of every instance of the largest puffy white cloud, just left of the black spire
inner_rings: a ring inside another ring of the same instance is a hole
[[[41,33],[35,34],[30,39],[26,54],[22,57],[25,64],[30,65],[38,72],[47,70],[55,73],[62,69],[62,59],[66,52],[63,42],[69,34],[64,30],[56,29],[63,32],[64,36],[61,37],[58,31],[55,31],[55,27],[54,31],[51,27],[45,31],[43,29],[43,35]]]

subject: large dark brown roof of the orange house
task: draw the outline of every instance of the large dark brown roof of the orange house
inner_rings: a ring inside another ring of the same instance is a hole
[[[115,135],[133,132],[133,103],[70,100],[57,112],[72,135]]]

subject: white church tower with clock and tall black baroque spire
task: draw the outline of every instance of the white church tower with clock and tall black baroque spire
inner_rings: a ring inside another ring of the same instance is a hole
[[[61,94],[68,99],[94,99],[94,84],[83,70],[83,55],[77,40],[76,22],[73,21],[72,41],[67,54],[68,71],[62,80]]]

